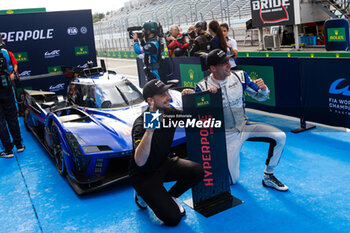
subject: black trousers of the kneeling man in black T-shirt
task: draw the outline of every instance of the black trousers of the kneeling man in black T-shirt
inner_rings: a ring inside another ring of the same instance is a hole
[[[197,184],[203,176],[204,171],[200,164],[174,157],[166,160],[153,174],[131,177],[131,183],[164,224],[176,226],[182,216],[172,197],[181,196]],[[170,181],[177,182],[167,191],[163,183]]]

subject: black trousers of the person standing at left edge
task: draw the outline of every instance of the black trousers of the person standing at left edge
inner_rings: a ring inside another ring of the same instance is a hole
[[[22,144],[21,131],[19,129],[17,108],[12,87],[0,87],[0,139],[5,151],[13,148],[9,132],[10,130],[13,144],[20,146]]]

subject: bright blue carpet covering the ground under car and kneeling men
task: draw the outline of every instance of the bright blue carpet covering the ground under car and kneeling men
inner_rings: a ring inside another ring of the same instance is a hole
[[[350,232],[350,133],[317,127],[292,134],[298,122],[248,115],[286,132],[275,174],[288,192],[261,185],[268,145],[246,142],[240,179],[231,186],[244,203],[210,218],[184,204],[186,217],[169,228],[152,211],[138,209],[128,181],[77,196],[21,127],[26,150],[16,154],[19,166],[15,158],[0,159],[0,232]],[[188,191],[180,200],[190,197]]]

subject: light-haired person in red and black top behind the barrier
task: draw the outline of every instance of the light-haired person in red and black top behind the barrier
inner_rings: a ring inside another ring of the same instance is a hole
[[[186,56],[189,44],[186,43],[184,36],[180,32],[177,25],[171,25],[169,30],[170,35],[166,37],[168,41],[169,57]]]

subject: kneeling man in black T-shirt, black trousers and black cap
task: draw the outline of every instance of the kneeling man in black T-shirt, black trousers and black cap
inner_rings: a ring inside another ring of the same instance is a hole
[[[147,112],[153,117],[176,116],[180,110],[171,108],[170,85],[160,80],[151,80],[143,88],[143,97],[148,103]],[[194,91],[185,89],[182,94]],[[178,119],[172,119],[178,120]],[[141,208],[149,206],[155,215],[168,226],[176,226],[185,215],[185,209],[177,199],[188,189],[200,182],[204,171],[200,164],[169,157],[175,127],[159,129],[144,128],[144,114],[134,122],[132,142],[134,155],[130,160],[129,176],[135,189],[135,202]],[[167,191],[163,183],[176,181]]]

